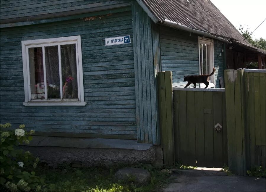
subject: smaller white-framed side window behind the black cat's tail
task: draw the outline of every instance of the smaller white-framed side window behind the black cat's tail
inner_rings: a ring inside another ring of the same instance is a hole
[[[200,75],[207,75],[213,71],[214,51],[213,40],[199,37],[199,71]],[[214,75],[209,77],[209,87],[214,86]],[[203,85],[204,87],[206,85]]]

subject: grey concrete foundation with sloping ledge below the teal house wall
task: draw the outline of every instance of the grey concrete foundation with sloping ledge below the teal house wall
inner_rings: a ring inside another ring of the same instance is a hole
[[[84,167],[163,164],[163,151],[159,146],[136,140],[34,136],[30,144],[20,147],[52,167],[63,163]]]

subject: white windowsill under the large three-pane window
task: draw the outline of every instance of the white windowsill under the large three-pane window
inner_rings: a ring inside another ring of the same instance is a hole
[[[28,101],[23,102],[25,106],[85,106],[86,101]]]

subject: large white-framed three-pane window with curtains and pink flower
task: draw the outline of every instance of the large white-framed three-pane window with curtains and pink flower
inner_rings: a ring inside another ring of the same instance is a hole
[[[22,41],[24,105],[85,105],[80,36]]]

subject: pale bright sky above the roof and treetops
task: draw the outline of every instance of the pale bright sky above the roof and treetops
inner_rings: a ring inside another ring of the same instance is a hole
[[[236,27],[239,23],[250,32],[266,18],[265,0],[211,0],[222,14]],[[252,38],[266,38],[266,20],[252,33]]]

